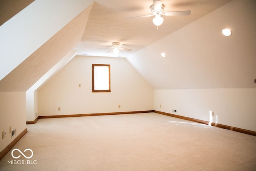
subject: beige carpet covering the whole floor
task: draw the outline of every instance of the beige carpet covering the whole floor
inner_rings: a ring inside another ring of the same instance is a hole
[[[21,155],[14,159],[10,150],[1,171],[256,170],[255,136],[158,113],[39,119],[27,127],[13,149],[34,155],[14,151]]]

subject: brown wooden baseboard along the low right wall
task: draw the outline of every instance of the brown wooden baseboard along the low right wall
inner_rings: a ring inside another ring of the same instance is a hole
[[[177,118],[180,118],[180,119],[185,119],[185,120],[188,120],[188,121],[194,121],[194,122],[198,122],[198,123],[203,123],[203,124],[206,124],[206,125],[209,124],[208,121],[203,121],[203,120],[200,120],[200,119],[194,119],[194,118],[191,118],[191,117],[174,115],[174,114],[171,114],[171,113],[166,113],[166,112],[156,111],[156,110],[154,112],[162,114],[162,115],[168,115],[168,116],[177,117]],[[250,131],[250,130],[247,130],[247,129],[232,127],[232,126],[228,126],[228,125],[222,125],[222,124],[219,124],[219,123],[211,123],[211,125],[214,126],[214,127],[219,127],[219,128],[223,128],[223,129],[229,129],[229,130],[232,130],[232,131],[236,131],[236,132],[240,132],[240,133],[246,133],[246,134],[249,134],[249,135],[256,136],[256,131]]]

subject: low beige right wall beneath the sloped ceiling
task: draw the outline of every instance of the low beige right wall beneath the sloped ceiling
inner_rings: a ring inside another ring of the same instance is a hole
[[[256,131],[256,89],[154,90],[154,109]],[[160,104],[162,107],[160,107]],[[218,119],[216,118],[218,117]]]

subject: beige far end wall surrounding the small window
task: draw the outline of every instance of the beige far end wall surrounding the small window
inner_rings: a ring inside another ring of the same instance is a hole
[[[92,64],[111,65],[110,93],[92,93]],[[153,110],[153,89],[125,58],[76,56],[38,90],[40,116],[142,110]]]

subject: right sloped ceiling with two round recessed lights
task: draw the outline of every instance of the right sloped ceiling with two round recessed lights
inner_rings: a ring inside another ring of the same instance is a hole
[[[256,88],[255,7],[234,0],[127,59],[154,89]]]

